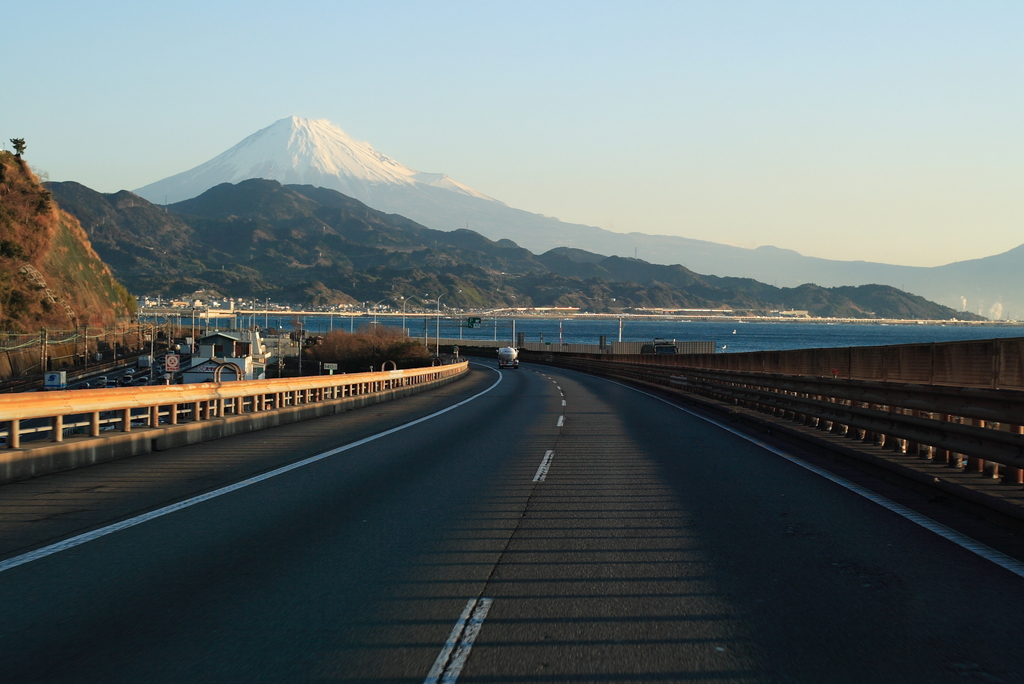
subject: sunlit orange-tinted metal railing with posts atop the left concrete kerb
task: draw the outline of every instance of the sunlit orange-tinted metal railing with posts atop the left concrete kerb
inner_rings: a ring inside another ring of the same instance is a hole
[[[175,426],[227,416],[335,401],[414,387],[465,373],[468,365],[336,376],[197,383],[155,387],[63,390],[0,396],[0,436],[8,448],[40,433],[49,441],[84,432],[131,432],[133,427]]]

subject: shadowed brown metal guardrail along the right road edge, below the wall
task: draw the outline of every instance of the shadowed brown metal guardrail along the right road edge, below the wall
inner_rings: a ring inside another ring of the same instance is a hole
[[[530,354],[527,359],[660,385],[1024,483],[1024,391],[1018,389],[719,371],[566,354]]]

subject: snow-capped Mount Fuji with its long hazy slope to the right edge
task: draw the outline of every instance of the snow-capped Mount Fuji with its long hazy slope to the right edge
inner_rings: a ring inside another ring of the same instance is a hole
[[[1024,282],[1017,277],[1024,268],[1024,246],[984,259],[926,268],[820,259],[775,247],[744,249],[674,236],[611,232],[515,209],[442,173],[411,169],[326,120],[282,119],[209,162],[135,194],[168,204],[250,178],[336,189],[431,228],[468,226],[492,240],[513,240],[536,253],[572,247],[780,287],[890,285],[957,310],[1024,318]]]

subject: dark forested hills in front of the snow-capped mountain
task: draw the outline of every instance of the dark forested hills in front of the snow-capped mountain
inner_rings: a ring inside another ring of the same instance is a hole
[[[466,308],[607,311],[614,303],[615,309],[782,307],[835,316],[956,317],[955,311],[896,291],[890,293],[896,304],[876,311],[858,303],[858,292],[775,288],[583,250],[535,255],[509,240],[496,242],[464,228],[436,230],[313,185],[249,179],[166,208],[77,183],[50,187],[62,202],[77,204],[97,249],[140,294],[213,289],[318,304],[449,292],[450,305]],[[159,222],[165,225],[154,225]],[[139,230],[135,226],[143,226],[145,234],[132,238]],[[178,241],[173,250],[163,249],[159,239],[169,233]]]

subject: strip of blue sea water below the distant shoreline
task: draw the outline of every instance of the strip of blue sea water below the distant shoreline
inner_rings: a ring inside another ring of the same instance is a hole
[[[482,316],[481,316],[482,317]],[[256,316],[256,324],[270,328],[292,330],[292,316]],[[380,325],[401,328],[401,316],[378,316]],[[206,324],[197,320],[197,324]],[[211,322],[213,325],[215,322]],[[238,324],[251,324],[252,318]],[[407,316],[406,328],[413,337],[435,336],[435,316]],[[182,325],[188,326],[187,316]],[[228,325],[221,319],[219,326]],[[232,324],[233,325],[233,324]],[[358,331],[374,325],[373,316],[366,315],[308,315],[303,316],[303,327],[310,333],[331,330]],[[597,344],[601,335],[608,342],[618,340],[618,320],[615,318],[517,318],[515,329],[525,333],[527,342]],[[559,330],[560,329],[560,330]],[[512,339],[512,318],[482,317],[477,328],[466,328],[465,317],[440,318],[440,337],[470,340]],[[851,347],[881,344],[911,344],[920,342],[951,342],[958,340],[988,340],[1007,337],[1024,337],[1024,326],[968,326],[968,325],[887,325],[887,324],[826,324],[826,323],[735,323],[687,322],[675,319],[623,322],[623,341],[650,341],[655,337],[676,340],[713,340],[720,352],[762,351],[773,349],[812,349],[820,347]]]

